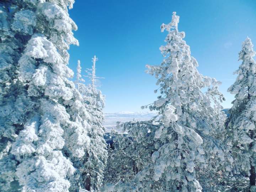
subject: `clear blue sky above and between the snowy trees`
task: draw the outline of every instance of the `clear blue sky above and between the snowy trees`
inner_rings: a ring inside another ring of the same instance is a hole
[[[76,0],[69,13],[80,46],[71,46],[69,67],[75,71],[80,59],[85,75],[96,54],[96,74],[105,77],[100,88],[105,112],[140,111],[155,101],[156,79],[145,74],[145,64],[162,62],[159,47],[166,32],[160,25],[171,21],[173,11],[199,72],[223,82],[223,106],[231,107],[234,96],[226,90],[241,63],[241,43],[248,36],[256,49],[256,0]]]

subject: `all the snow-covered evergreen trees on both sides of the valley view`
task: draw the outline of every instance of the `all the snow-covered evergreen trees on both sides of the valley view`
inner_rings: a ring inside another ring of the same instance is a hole
[[[0,2],[0,191],[256,191],[256,62],[249,38],[242,44],[230,86],[230,116],[220,82],[201,75],[178,31],[174,12],[155,75],[159,96],[143,106],[148,121],[102,122],[105,97],[97,89],[97,58],[85,85],[78,61],[68,68],[77,30],[68,14],[74,0]],[[206,92],[203,92],[206,90]]]

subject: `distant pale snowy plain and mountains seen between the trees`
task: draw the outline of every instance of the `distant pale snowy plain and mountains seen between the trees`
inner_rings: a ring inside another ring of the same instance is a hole
[[[112,129],[116,129],[116,122],[127,122],[132,121],[133,119],[137,121],[149,120],[150,118],[156,115],[155,112],[131,112],[131,111],[122,111],[117,113],[105,113],[105,122],[103,126],[106,128],[106,132],[110,132]],[[118,130],[117,130],[118,131]]]

